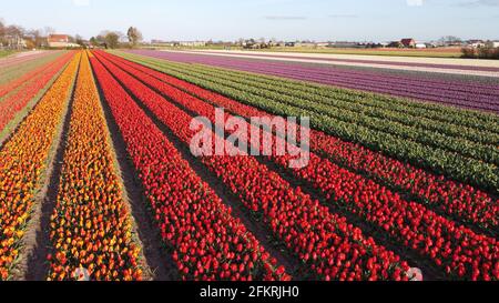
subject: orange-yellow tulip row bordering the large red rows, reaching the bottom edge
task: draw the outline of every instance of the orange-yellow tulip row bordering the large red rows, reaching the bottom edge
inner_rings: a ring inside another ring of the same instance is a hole
[[[140,249],[113,164],[99,93],[83,53],[59,195],[51,216],[48,280],[138,281]]]

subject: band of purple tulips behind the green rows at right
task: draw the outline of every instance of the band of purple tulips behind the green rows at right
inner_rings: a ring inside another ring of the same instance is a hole
[[[498,85],[387,75],[373,71],[356,71],[335,67],[318,67],[294,62],[234,59],[205,54],[160,51],[133,53],[184,63],[201,63],[221,68],[257,72],[295,80],[348,89],[414,98],[468,109],[499,112]]]

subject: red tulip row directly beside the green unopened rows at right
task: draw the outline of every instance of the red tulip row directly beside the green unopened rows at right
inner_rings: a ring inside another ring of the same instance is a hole
[[[120,57],[106,54],[106,58],[147,73],[217,107],[225,108],[234,114],[244,118],[273,118],[267,112],[254,107],[242,104]],[[499,200],[492,199],[487,193],[470,185],[450,181],[442,175],[432,174],[316,130],[310,131],[310,148],[317,154],[324,155],[349,170],[367,174],[388,186],[409,193],[417,201],[449,214],[458,222],[492,230],[499,226]]]

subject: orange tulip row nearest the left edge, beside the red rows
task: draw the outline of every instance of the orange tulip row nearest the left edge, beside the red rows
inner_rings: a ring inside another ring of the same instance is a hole
[[[71,95],[80,54],[0,150],[0,280],[8,280],[19,259],[34,195]]]

